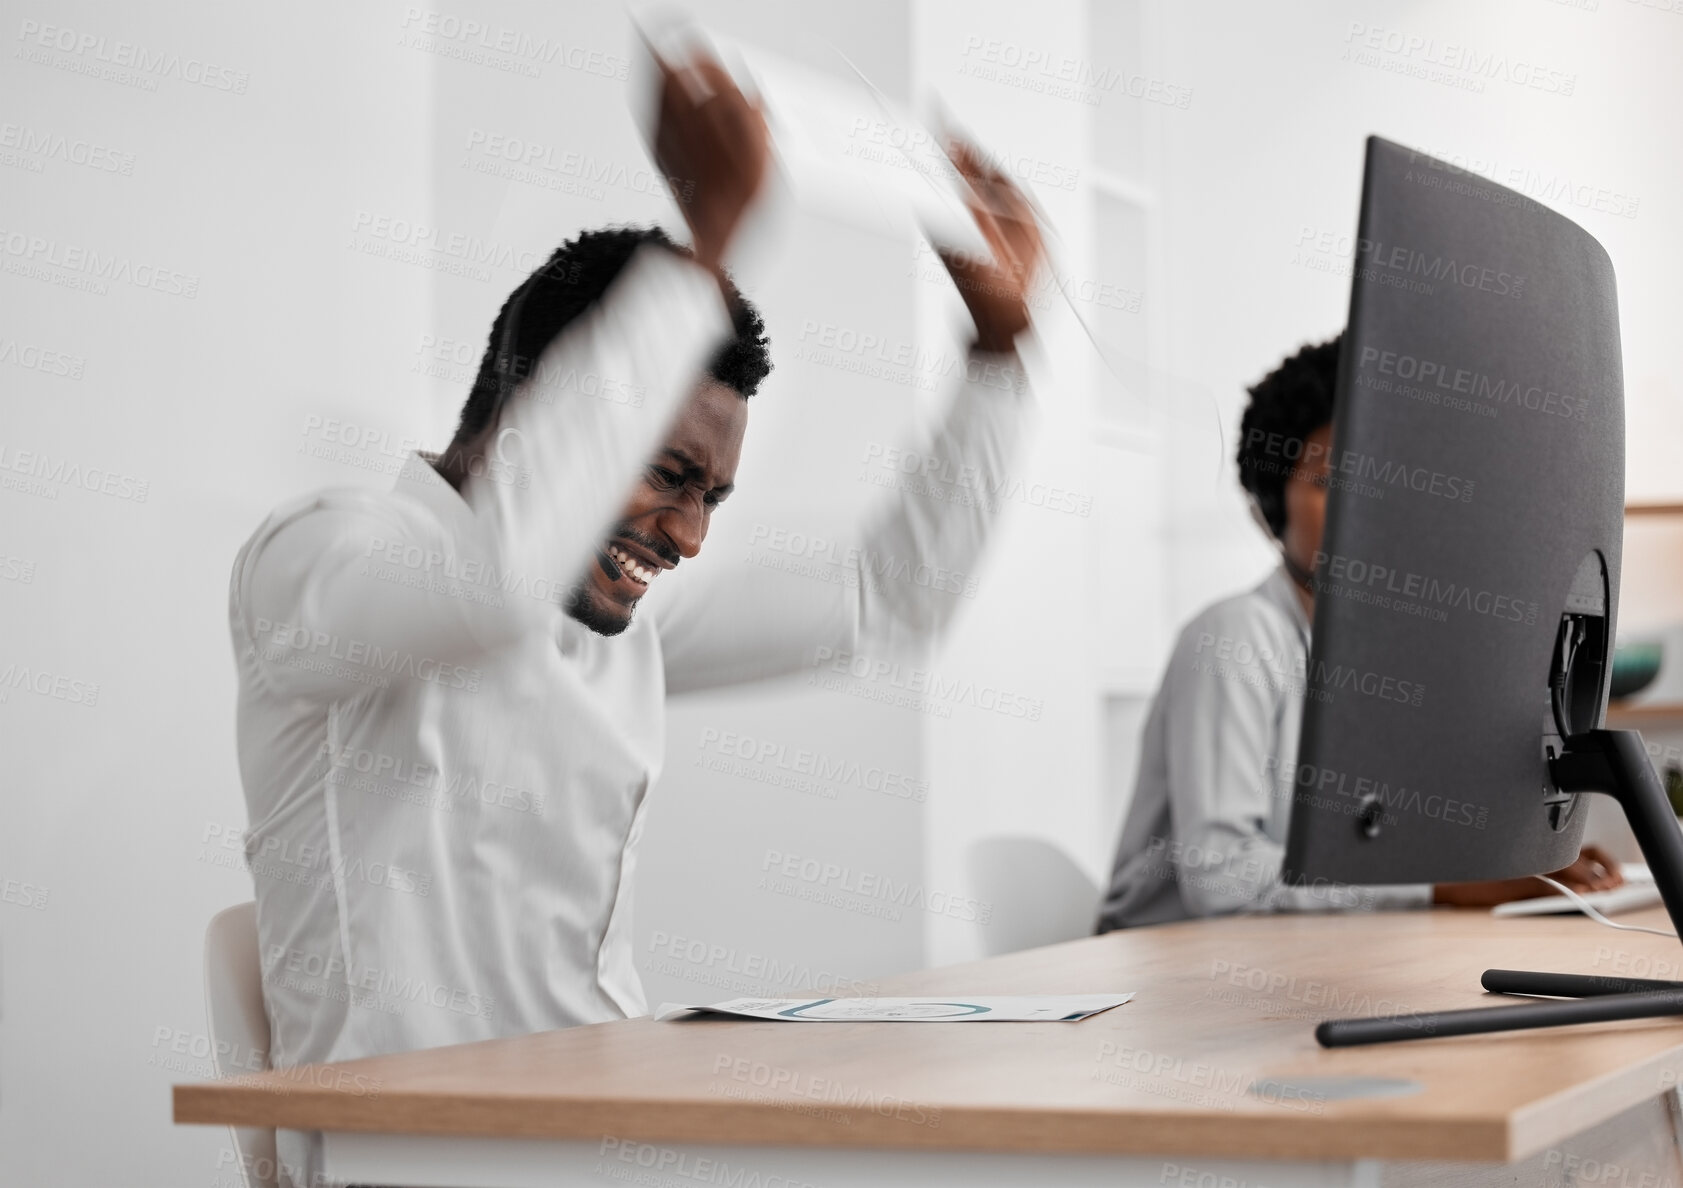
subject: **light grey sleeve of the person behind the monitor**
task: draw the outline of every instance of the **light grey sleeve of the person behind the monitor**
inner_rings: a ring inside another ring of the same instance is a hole
[[[1296,651],[1294,628],[1259,599],[1212,607],[1180,636],[1163,676],[1168,858],[1193,915],[1424,907],[1429,887],[1286,887],[1284,845],[1267,833],[1284,818],[1291,774],[1274,754],[1281,703],[1303,680],[1279,656]]]

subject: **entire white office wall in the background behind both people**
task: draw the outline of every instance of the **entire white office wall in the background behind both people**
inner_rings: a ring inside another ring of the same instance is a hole
[[[8,54],[24,50],[0,76],[0,673],[12,673],[0,685],[25,668],[49,678],[44,693],[0,688],[3,1183],[227,1183],[224,1134],[167,1119],[168,1085],[209,1072],[204,922],[251,895],[237,850],[220,845],[244,826],[224,626],[234,550],[281,498],[385,485],[406,448],[443,441],[490,318],[534,254],[603,222],[675,224],[629,177],[643,155],[623,82],[466,61],[459,39],[416,40],[409,8],[140,15],[88,0],[8,3],[0,20]],[[441,12],[606,59],[629,47],[606,5]],[[1242,387],[1341,325],[1346,281],[1293,254],[1304,227],[1353,229],[1370,131],[1493,162],[1496,180],[1521,170],[1638,199],[1636,217],[1557,205],[1619,271],[1631,495],[1683,498],[1683,389],[1666,337],[1683,247],[1671,151],[1683,17],[1636,0],[717,0],[700,12],[818,71],[840,72],[840,47],[899,99],[939,93],[1038,170],[1072,305],[1111,355],[1099,360],[1062,300],[1045,311],[1045,417],[1022,478],[1091,496],[1089,513],[1011,506],[976,599],[922,661],[1037,705],[1037,720],[963,703],[904,713],[860,697],[865,685],[799,680],[673,703],[638,902],[655,1001],[868,986],[986,947],[974,922],[939,912],[880,919],[766,892],[767,850],[964,900],[988,894],[969,848],[1028,833],[1102,877],[1138,698],[1170,628],[1269,562],[1232,481]],[[1474,94],[1350,64],[1351,22],[1530,56],[1575,74],[1575,93],[1491,82]],[[49,24],[71,30],[67,49],[20,35]],[[175,66],[145,88],[91,74],[118,40]],[[1049,96],[1023,86],[1028,72],[1001,74],[990,42],[1109,69],[1124,86],[1099,86],[1096,104]],[[1129,96],[1129,79],[1153,82],[1155,98]],[[613,177],[624,165],[628,180],[550,188],[485,173],[476,131],[579,151]],[[96,145],[126,170],[30,151],[42,136],[77,155]],[[401,244],[414,232],[399,222],[438,239]],[[493,263],[454,271],[433,246],[453,234],[490,246]],[[192,279],[194,296],[131,279],[72,288],[88,274],[44,266],[49,249],[30,244],[47,241],[59,261],[81,249],[116,256],[128,276],[162,268],[165,288]],[[756,397],[742,493],[715,523],[709,564],[735,564],[756,523],[840,532],[873,490],[857,481],[865,449],[904,439],[939,399],[905,375],[862,380],[798,358],[808,321],[927,348],[961,316],[907,237],[803,215],[783,242],[742,278],[778,372]],[[1139,301],[1118,310],[1084,281]],[[328,441],[328,421],[357,426],[364,444]],[[66,483],[64,469],[30,493],[19,451],[108,471],[111,493]],[[927,799],[855,786],[808,796],[707,771],[695,766],[705,730],[848,756],[926,782]],[[702,941],[709,956],[663,956],[661,937]]]

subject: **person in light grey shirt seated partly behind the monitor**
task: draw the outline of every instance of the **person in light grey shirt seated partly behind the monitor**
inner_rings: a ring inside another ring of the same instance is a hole
[[[1232,912],[1493,907],[1550,894],[1537,878],[1439,887],[1281,882],[1333,475],[1338,343],[1304,347],[1250,389],[1239,481],[1281,564],[1256,589],[1202,611],[1175,643],[1146,719],[1099,932]],[[1622,882],[1597,846],[1553,877],[1574,890]]]

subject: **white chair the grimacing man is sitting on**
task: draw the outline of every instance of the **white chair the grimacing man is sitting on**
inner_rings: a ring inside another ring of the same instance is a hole
[[[263,963],[257,956],[257,905],[236,904],[210,917],[205,929],[205,1013],[217,1077],[242,1077],[269,1067],[269,1016],[263,1008]],[[227,1127],[244,1188],[274,1188],[274,1131]]]

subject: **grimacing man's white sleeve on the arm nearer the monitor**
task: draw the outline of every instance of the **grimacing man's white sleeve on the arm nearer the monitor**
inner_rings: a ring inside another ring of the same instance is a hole
[[[973,353],[939,427],[919,456],[941,478],[892,473],[857,544],[794,569],[749,557],[673,582],[656,607],[673,693],[799,671],[857,650],[897,651],[939,633],[976,594],[976,564],[998,518],[998,491],[1033,421],[1015,355]]]

